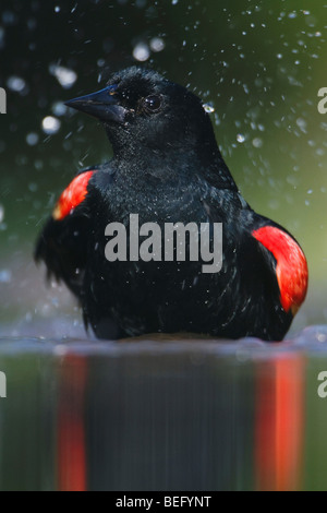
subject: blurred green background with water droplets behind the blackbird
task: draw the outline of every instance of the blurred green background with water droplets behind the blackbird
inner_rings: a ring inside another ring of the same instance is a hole
[[[69,295],[46,289],[33,246],[76,170],[111,156],[102,128],[62,102],[133,63],[213,105],[243,195],[307,256],[308,296],[292,331],[325,324],[327,115],[317,92],[327,87],[326,29],[318,0],[1,0],[0,333],[83,333]],[[49,116],[53,134],[43,126]]]

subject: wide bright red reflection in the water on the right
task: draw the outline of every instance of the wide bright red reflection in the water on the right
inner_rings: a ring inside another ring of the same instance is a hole
[[[301,488],[304,357],[259,361],[255,398],[255,479],[258,490]]]

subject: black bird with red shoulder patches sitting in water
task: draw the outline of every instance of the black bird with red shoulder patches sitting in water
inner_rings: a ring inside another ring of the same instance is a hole
[[[201,99],[156,72],[130,68],[66,105],[104,123],[113,158],[73,179],[35,258],[78,298],[95,334],[281,339],[305,298],[305,256],[284,228],[242,198]],[[220,272],[203,273],[201,259],[109,262],[106,227],[129,228],[130,214],[160,227],[222,223]]]

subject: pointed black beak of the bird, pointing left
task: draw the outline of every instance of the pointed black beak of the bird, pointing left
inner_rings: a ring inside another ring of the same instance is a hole
[[[117,85],[65,102],[68,107],[82,110],[104,122],[123,123],[126,109],[119,105]]]

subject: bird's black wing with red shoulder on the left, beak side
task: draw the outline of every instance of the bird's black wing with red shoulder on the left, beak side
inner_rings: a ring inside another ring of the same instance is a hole
[[[81,171],[62,192],[35,248],[36,262],[44,261],[47,277],[63,281],[81,299],[86,265],[89,212],[87,194],[97,168]]]

